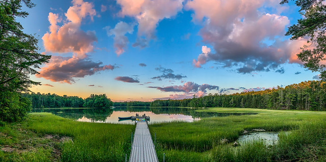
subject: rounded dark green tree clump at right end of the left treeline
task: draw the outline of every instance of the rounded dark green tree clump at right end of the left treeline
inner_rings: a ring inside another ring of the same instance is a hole
[[[85,99],[83,107],[88,108],[109,108],[113,102],[107,98],[106,94],[91,94]]]

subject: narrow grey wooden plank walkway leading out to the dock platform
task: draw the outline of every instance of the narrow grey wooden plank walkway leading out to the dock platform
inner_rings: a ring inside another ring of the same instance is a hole
[[[129,161],[159,161],[146,121],[137,122]]]

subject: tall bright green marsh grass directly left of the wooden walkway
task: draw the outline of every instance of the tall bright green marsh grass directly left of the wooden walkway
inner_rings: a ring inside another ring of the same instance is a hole
[[[130,155],[134,125],[77,122],[50,113],[31,113],[29,128],[41,134],[69,136],[62,161],[123,161]]]

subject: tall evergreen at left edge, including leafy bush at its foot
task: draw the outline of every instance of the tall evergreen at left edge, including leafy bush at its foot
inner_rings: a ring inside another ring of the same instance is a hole
[[[21,120],[30,111],[30,103],[18,92],[28,91],[39,82],[30,80],[38,74],[39,65],[48,62],[51,56],[38,53],[38,40],[23,33],[17,17],[26,17],[21,4],[34,6],[30,0],[0,1],[0,120],[14,122]]]

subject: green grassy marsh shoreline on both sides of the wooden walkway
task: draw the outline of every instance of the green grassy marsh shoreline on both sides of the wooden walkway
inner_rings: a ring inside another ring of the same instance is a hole
[[[149,124],[160,161],[326,161],[326,112],[208,108],[199,112],[257,113]],[[279,143],[232,144],[244,130],[281,132]],[[123,161],[135,125],[78,122],[51,113],[0,126],[0,161]],[[290,134],[282,132],[291,131]],[[229,142],[221,142],[227,139]]]

